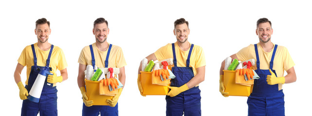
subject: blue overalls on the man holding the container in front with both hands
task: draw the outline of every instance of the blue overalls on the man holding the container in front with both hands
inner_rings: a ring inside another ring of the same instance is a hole
[[[92,57],[92,66],[94,68],[95,66],[95,58],[93,54],[93,48],[92,44],[89,45],[91,50],[91,57]],[[105,59],[105,68],[108,68],[109,66],[109,57],[110,57],[110,49],[112,44],[109,46],[109,50],[106,55]],[[103,102],[106,102],[106,100],[103,100]],[[110,107],[109,105],[93,105],[90,107],[87,107],[85,103],[83,103],[82,106],[82,116],[118,116],[118,103],[115,107]]]

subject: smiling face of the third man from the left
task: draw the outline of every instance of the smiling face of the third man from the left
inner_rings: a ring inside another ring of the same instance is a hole
[[[177,25],[176,29],[173,30],[173,33],[179,43],[185,43],[187,41],[189,32],[190,29],[188,29],[186,23]]]

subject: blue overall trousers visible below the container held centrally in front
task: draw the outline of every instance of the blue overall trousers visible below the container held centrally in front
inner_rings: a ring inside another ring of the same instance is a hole
[[[82,116],[118,116],[118,103],[115,107],[109,105],[93,105],[87,107],[84,103],[82,106]]]

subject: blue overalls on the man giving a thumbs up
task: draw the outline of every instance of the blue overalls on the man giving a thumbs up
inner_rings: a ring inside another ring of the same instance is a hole
[[[277,44],[275,44],[270,61],[270,69],[273,73],[275,73],[275,70],[273,70],[273,61],[276,48]],[[278,90],[278,84],[268,85],[266,78],[271,73],[269,70],[260,69],[257,44],[255,44],[255,51],[257,57],[257,70],[255,72],[260,78],[255,79],[253,92],[247,100],[248,116],[285,116],[283,90]]]

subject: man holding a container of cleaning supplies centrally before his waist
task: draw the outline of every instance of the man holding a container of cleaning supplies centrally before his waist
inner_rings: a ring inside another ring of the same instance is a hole
[[[126,60],[124,58],[121,47],[111,45],[106,41],[110,29],[108,22],[104,18],[97,18],[93,23],[93,34],[95,35],[95,43],[88,45],[81,50],[79,56],[79,73],[78,73],[78,87],[80,88],[83,97],[82,116],[118,116],[118,98],[121,94],[122,88],[118,89],[116,94],[111,100],[103,100],[108,105],[92,105],[93,101],[88,99],[85,88],[85,73],[87,65],[94,65],[98,68],[119,68],[119,80],[125,85],[126,75],[125,66]],[[91,49],[92,48],[92,49]],[[92,51],[92,52],[91,52]],[[94,55],[92,55],[94,54]],[[92,56],[94,56],[95,63],[92,64]],[[109,57],[107,57],[109,56]],[[108,58],[108,59],[105,59]],[[108,62],[105,62],[108,60]]]

